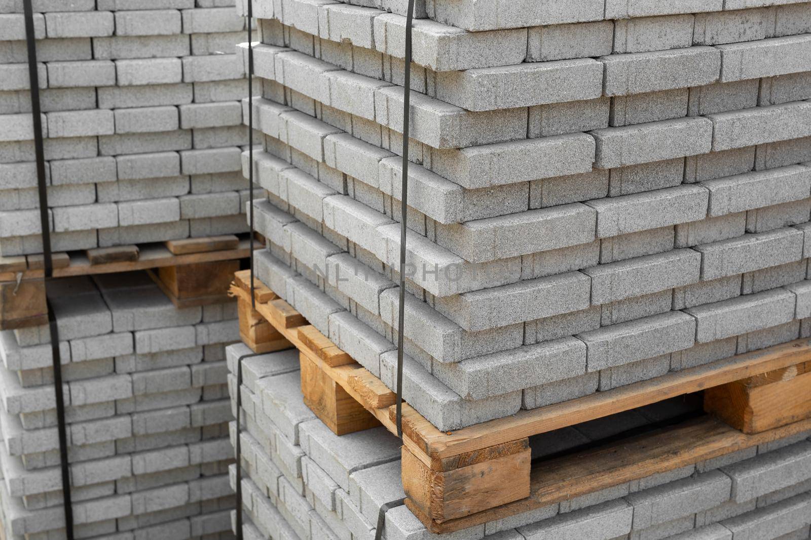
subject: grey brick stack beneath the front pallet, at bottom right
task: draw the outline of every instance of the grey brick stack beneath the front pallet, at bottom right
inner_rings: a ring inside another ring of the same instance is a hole
[[[236,359],[248,352],[242,344],[226,349],[234,413]],[[397,437],[384,427],[334,435],[303,405],[295,350],[242,362],[244,538],[375,538],[380,507],[404,496]],[[689,403],[680,400],[534,437],[533,457],[678,416],[689,409]],[[232,423],[234,443],[235,427]],[[811,524],[809,435],[800,433],[450,534],[430,534],[408,508],[398,506],[386,512],[382,538],[805,540]],[[232,485],[235,473],[232,466]]]

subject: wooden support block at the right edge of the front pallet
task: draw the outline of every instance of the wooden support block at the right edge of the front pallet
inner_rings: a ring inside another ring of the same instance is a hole
[[[811,418],[811,363],[706,389],[704,410],[744,433]]]

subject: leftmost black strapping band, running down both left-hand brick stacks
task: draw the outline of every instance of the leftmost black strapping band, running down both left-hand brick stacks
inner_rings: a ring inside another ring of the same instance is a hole
[[[51,253],[50,220],[48,219],[48,191],[45,185],[45,149],[42,138],[40,108],[40,80],[36,64],[36,36],[32,0],[24,0],[25,40],[28,46],[28,80],[31,86],[31,114],[34,128],[34,153],[36,155],[36,186],[39,191],[40,225],[42,228],[42,253],[45,277],[45,306],[48,309],[51,354],[54,367],[54,393],[56,394],[57,431],[59,435],[59,460],[62,466],[62,496],[65,509],[67,540],[73,540],[73,504],[71,501],[71,470],[67,461],[67,426],[65,423],[65,397],[62,392],[62,355],[59,354],[59,330],[54,309],[48,299],[48,281],[54,276],[54,261]]]

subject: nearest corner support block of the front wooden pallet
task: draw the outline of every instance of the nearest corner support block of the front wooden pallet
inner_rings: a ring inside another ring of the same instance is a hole
[[[442,523],[526,499],[530,466],[529,439],[434,459],[430,466],[403,446],[405,504],[415,515]]]

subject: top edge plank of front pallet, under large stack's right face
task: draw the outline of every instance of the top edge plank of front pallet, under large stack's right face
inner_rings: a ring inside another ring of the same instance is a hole
[[[639,406],[650,405],[684,393],[738,381],[792,364],[811,361],[811,340],[794,342],[736,355],[696,368],[670,372],[650,381],[598,392],[569,402],[520,410],[508,418],[465,427],[448,435],[440,432],[422,415],[403,408],[403,432],[431,457],[458,453],[550,432],[560,427],[614,415]]]

